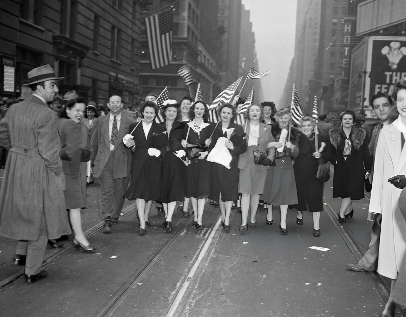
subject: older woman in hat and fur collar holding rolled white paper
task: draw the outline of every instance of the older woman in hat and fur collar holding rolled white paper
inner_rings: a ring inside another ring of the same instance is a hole
[[[289,127],[292,120],[289,107],[276,111],[275,120],[277,124],[272,126],[272,136],[275,141],[270,142],[268,146],[272,148],[276,166],[268,171],[265,182],[266,191],[261,196],[261,199],[269,204],[266,217],[267,225],[271,225],[273,222],[272,206],[281,206],[281,224],[279,225],[279,230],[283,235],[287,235],[287,208],[289,205],[298,203],[292,159],[299,154],[299,131]],[[255,222],[252,214],[251,222]]]

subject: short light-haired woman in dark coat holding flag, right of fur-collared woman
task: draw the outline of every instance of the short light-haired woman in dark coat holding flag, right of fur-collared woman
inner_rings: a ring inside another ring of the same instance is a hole
[[[325,163],[329,160],[326,144],[328,140],[322,135],[315,137],[316,121],[310,116],[300,119],[302,133],[299,135],[299,155],[293,166],[298,194],[298,203],[291,208],[298,210],[297,223],[303,223],[302,210],[309,210],[313,215],[313,236],[320,236],[320,212],[323,210],[324,183],[317,179],[319,161]],[[317,141],[316,141],[317,140]],[[316,146],[317,142],[317,146]]]

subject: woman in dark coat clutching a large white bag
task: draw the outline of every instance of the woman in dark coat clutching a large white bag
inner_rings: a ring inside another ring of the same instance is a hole
[[[229,168],[219,163],[212,164],[212,191],[209,199],[220,203],[221,220],[224,231],[230,230],[230,213],[233,200],[240,199],[238,194],[238,180],[240,171],[238,169],[238,157],[247,149],[244,137],[244,129],[233,122],[237,116],[235,108],[226,103],[219,109],[221,124],[217,124],[214,130],[212,141],[209,146],[209,153],[218,146],[225,146],[231,154]],[[219,138],[224,137],[219,140]],[[221,143],[223,144],[218,144]],[[216,149],[215,149],[216,150]]]

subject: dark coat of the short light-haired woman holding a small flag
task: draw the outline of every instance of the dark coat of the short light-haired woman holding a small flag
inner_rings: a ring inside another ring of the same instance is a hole
[[[317,137],[317,150],[320,148],[321,143],[329,143],[327,138],[318,135]],[[317,212],[323,210],[323,187],[324,183],[317,180],[317,169],[319,167],[319,160],[317,160],[313,153],[316,152],[316,144],[314,134],[307,137],[304,134],[299,136],[299,155],[295,159],[293,166],[296,180],[296,191],[298,193],[298,203],[292,205],[291,208],[298,210],[307,210],[306,204],[309,206],[309,212]],[[328,161],[328,151],[324,148],[320,161],[322,163]]]

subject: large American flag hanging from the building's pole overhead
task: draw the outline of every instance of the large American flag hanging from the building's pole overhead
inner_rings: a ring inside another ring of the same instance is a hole
[[[173,10],[146,17],[145,27],[152,69],[168,65],[172,60]]]

